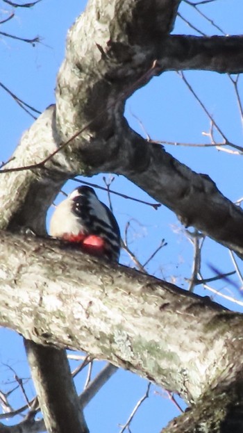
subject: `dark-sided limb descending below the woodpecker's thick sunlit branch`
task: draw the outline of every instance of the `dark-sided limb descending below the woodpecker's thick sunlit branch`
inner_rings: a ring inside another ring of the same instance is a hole
[[[30,340],[25,341],[25,346],[38,398],[45,402],[42,414],[47,432],[88,433],[74,383],[70,380],[65,351],[51,347],[43,350],[42,345]]]

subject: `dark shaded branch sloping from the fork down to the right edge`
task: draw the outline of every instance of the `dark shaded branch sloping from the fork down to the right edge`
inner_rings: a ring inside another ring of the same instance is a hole
[[[190,170],[159,145],[148,145],[134,133],[129,136],[127,142],[124,136],[126,161],[119,173],[174,211],[185,227],[196,227],[243,257],[242,209],[224,197],[206,174]]]

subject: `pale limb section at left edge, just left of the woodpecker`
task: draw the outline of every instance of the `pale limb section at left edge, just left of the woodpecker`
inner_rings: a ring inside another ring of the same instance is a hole
[[[50,106],[24,133],[5,167],[39,163],[52,154],[58,144],[55,106]],[[42,169],[0,174],[1,229],[28,227],[37,234],[46,234],[47,209],[69,176],[69,167],[61,153]]]

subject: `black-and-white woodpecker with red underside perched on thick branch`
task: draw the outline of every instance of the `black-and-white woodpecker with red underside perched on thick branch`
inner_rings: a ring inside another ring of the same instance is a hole
[[[50,234],[111,261],[119,260],[120,231],[115,216],[90,186],[80,186],[55,209]]]

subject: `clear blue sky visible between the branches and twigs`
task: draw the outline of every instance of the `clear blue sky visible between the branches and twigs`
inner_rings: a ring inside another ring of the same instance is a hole
[[[36,35],[41,38],[41,43],[32,47],[31,44],[0,35],[1,59],[3,59],[0,81],[39,111],[44,111],[49,104],[55,102],[56,74],[65,54],[67,29],[85,8],[85,3],[86,1],[70,0],[67,6],[66,1],[43,0],[35,8],[15,10],[15,18],[1,26],[2,31],[23,38],[34,38]],[[203,13],[207,13],[207,10],[208,16],[223,28],[225,33],[242,33],[242,0],[217,0],[208,6],[201,6]],[[1,4],[0,13],[1,19],[7,16],[5,3]],[[207,35],[221,34],[189,5],[182,3],[180,13]],[[174,33],[199,34],[179,17]],[[228,140],[242,145],[242,120],[233,85],[228,77],[212,72],[186,72],[185,76]],[[242,79],[240,79],[239,91],[242,95]],[[6,161],[15,149],[20,136],[31,126],[33,120],[1,88],[0,100],[0,159]],[[191,144],[208,142],[208,138],[203,135],[203,132],[208,132],[210,129],[208,117],[176,72],[167,72],[154,78],[128,100],[126,104],[128,122],[144,136],[144,131],[134,116],[139,118],[146,133],[153,140]],[[243,179],[239,155],[219,152],[214,148],[178,145],[167,145],[166,149],[179,161],[189,165],[192,170],[208,174],[229,199],[235,201],[242,197]],[[106,177],[109,179],[110,175]],[[104,186],[102,175],[85,180]],[[76,183],[72,181],[67,184],[65,190],[69,192],[75,187]],[[154,202],[151,197],[123,177],[116,178],[112,188]],[[108,203],[106,193],[98,191],[98,195],[103,202]],[[130,222],[129,246],[142,263],[149,258],[162,238],[167,241],[167,246],[163,247],[153,262],[149,263],[147,270],[187,288],[185,279],[190,277],[193,249],[176,215],[164,206],[155,211],[151,206],[137,204],[116,196],[112,197],[112,204],[122,233],[127,222]],[[121,254],[121,262],[133,266],[124,252]],[[234,270],[228,251],[207,239],[203,247],[203,277],[212,277],[210,265],[219,268],[222,272]],[[232,281],[240,286],[237,277],[232,277]],[[243,301],[239,292],[233,286],[226,287],[225,282],[219,281],[212,287]],[[203,289],[198,289],[198,292],[211,295],[209,291]],[[214,297],[214,299],[228,308],[242,311],[240,306],[229,304],[221,297]],[[3,365],[4,363],[15,368],[19,376],[28,377],[22,339],[10,331],[1,331],[0,389],[11,380],[10,370]],[[97,368],[99,366],[95,367]],[[83,380],[83,378],[78,379],[79,390]],[[112,377],[97,398],[87,407],[86,416],[90,431],[92,433],[119,432],[118,424],[126,422],[137,400],[145,393],[146,386],[145,380],[129,372],[120,371]],[[33,385],[28,383],[27,390],[31,397],[34,392]],[[19,398],[22,401],[22,396]],[[16,400],[15,405],[17,404],[19,399]],[[176,415],[178,410],[165,398],[163,391],[152,386],[150,397],[138,411],[131,430],[133,433],[156,433]]]

